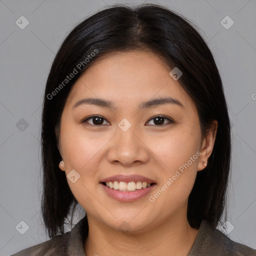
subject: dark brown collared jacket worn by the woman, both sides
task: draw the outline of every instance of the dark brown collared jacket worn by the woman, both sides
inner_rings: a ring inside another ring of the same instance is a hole
[[[88,222],[85,216],[70,231],[23,249],[11,256],[85,256],[83,245],[87,233]],[[256,250],[230,240],[218,229],[212,229],[206,221],[202,221],[187,256],[222,255],[256,256]]]

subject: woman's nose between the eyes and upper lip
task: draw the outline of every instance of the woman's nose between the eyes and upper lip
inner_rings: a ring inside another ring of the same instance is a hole
[[[119,163],[124,166],[145,163],[149,160],[149,149],[143,141],[141,132],[135,125],[123,131],[116,127],[116,135],[109,143],[107,159],[110,163]]]

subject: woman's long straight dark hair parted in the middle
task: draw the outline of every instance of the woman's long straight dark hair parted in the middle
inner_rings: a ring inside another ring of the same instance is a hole
[[[49,237],[64,233],[65,219],[69,214],[73,216],[77,204],[65,173],[58,167],[61,155],[57,142],[65,100],[72,85],[92,63],[107,53],[129,50],[150,50],[164,59],[170,70],[178,67],[182,71],[178,81],[195,102],[202,135],[212,120],[217,120],[213,151],[205,169],[197,172],[188,197],[187,219],[194,228],[202,220],[216,227],[222,216],[230,166],[230,124],[211,51],[192,24],[168,8],[118,4],[98,11],[71,30],[58,49],[47,78],[41,130],[41,211]],[[75,76],[65,80],[74,68]]]

